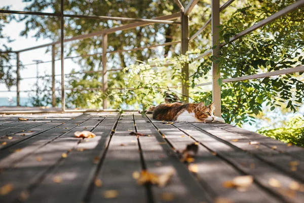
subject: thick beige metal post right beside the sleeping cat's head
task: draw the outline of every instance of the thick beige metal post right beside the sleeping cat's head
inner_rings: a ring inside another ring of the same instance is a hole
[[[212,35],[212,47],[218,43],[219,39],[219,0],[212,0],[211,3],[211,35]],[[219,46],[217,45],[214,49],[212,49],[212,56],[219,56]],[[220,96],[220,86],[217,83],[217,80],[220,78],[220,74],[218,73],[218,63],[212,62],[212,100],[215,106],[215,116],[221,116],[221,96]]]

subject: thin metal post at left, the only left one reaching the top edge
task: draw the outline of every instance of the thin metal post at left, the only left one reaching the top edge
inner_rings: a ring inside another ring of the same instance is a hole
[[[61,0],[61,16],[60,16],[60,29],[61,29],[61,37],[60,37],[60,44],[61,44],[61,110],[62,112],[65,111],[65,97],[64,97],[64,17],[63,17],[63,0]]]

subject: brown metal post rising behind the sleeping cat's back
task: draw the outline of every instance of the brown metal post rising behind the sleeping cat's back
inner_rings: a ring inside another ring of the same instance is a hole
[[[189,16],[180,12],[181,21],[181,54],[185,54],[189,48]],[[184,80],[182,82],[181,93],[185,95],[185,103],[189,102],[189,64],[185,63],[182,69]]]

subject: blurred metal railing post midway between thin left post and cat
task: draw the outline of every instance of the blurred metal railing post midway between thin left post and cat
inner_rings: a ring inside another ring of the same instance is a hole
[[[104,93],[107,89],[107,74],[106,74],[106,49],[107,49],[107,35],[102,35],[102,92]],[[107,108],[107,99],[102,100],[103,109]]]

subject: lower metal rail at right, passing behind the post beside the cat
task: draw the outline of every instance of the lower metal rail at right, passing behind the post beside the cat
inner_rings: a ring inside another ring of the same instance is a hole
[[[297,67],[292,67],[290,69],[283,69],[283,70],[278,70],[278,71],[273,71],[273,72],[268,72],[268,73],[261,73],[261,74],[254,74],[250,76],[242,76],[242,77],[236,77],[236,78],[228,78],[222,80],[223,83],[226,82],[237,82],[237,81],[244,81],[244,80],[254,80],[254,79],[259,79],[259,78],[268,78],[271,76],[279,76],[279,75],[284,75],[284,74],[293,74],[293,73],[298,73],[298,72],[304,72],[304,66],[297,66]],[[211,85],[212,82],[207,82],[203,84],[197,84],[195,87],[200,87],[200,86],[206,86],[206,85]]]

